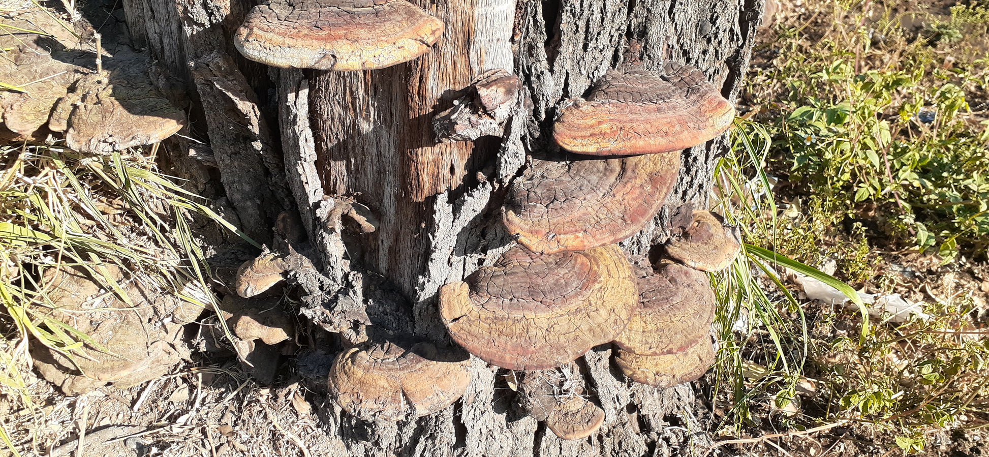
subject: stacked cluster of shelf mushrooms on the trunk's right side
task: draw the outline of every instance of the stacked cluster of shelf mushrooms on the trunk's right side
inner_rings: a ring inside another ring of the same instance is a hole
[[[634,267],[615,243],[662,209],[680,150],[721,135],[734,116],[694,67],[608,71],[555,124],[567,159],[533,158],[510,185],[502,221],[520,246],[440,290],[440,316],[453,339],[511,370],[559,367],[614,341],[616,362],[633,381],[670,387],[703,375],[714,360],[715,311],[703,271],[731,262],[737,233],[709,212],[694,212],[687,227],[674,228],[668,258]],[[536,386],[528,391],[546,389]],[[562,438],[596,427],[598,414],[580,397],[547,401],[552,408],[541,407],[538,395],[523,398],[548,424],[557,409],[587,419],[580,431],[551,426]]]

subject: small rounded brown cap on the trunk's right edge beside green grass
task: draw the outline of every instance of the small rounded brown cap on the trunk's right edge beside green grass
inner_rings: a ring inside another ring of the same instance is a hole
[[[674,260],[703,271],[721,271],[742,249],[738,228],[722,224],[720,216],[694,211],[693,221],[664,246]]]

